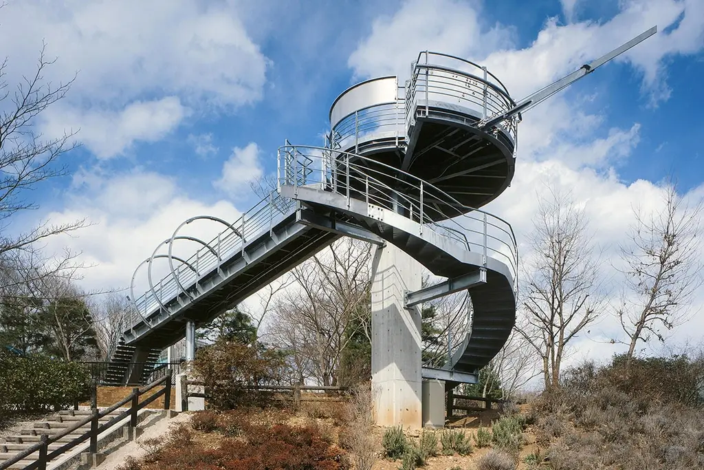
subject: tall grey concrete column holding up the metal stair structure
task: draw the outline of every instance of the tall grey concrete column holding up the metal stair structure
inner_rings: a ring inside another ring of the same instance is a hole
[[[421,268],[394,245],[372,260],[372,392],[379,426],[422,427],[420,308],[406,309]]]

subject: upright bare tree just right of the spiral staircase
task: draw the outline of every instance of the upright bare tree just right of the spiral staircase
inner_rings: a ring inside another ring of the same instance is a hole
[[[546,388],[555,388],[567,346],[600,314],[600,296],[586,214],[571,194],[553,188],[548,193],[528,237],[526,315],[517,330],[541,357]]]

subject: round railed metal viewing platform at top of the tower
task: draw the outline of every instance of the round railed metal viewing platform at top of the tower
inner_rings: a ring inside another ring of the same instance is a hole
[[[327,147],[410,173],[470,210],[498,197],[513,178],[520,116],[488,129],[482,120],[514,106],[485,67],[422,52],[404,85],[386,76],[340,94]]]

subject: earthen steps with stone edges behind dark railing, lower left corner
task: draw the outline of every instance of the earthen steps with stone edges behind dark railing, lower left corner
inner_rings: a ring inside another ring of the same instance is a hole
[[[108,414],[107,416],[101,418],[99,422],[101,424],[106,423],[124,411],[125,409],[123,408],[117,409],[111,414]],[[7,435],[5,436],[5,438],[0,438],[0,440],[3,441],[0,442],[0,465],[6,460],[11,459],[15,455],[27,449],[28,447],[32,447],[32,445],[37,444],[43,434],[51,436],[61,433],[67,428],[75,426],[77,422],[87,419],[90,414],[91,412],[89,409],[63,410],[52,416],[47,416],[46,418],[42,419],[42,421],[37,421],[33,423],[32,427],[22,429],[19,433],[16,433],[15,435]],[[153,409],[144,409],[139,414],[139,421],[144,422],[145,419],[148,419],[149,416],[153,414],[163,414],[163,412],[159,412],[158,410]],[[129,417],[126,418],[126,420],[129,420]],[[122,438],[121,428],[122,426],[115,426],[111,428],[111,430],[105,431],[103,434],[101,434],[101,436],[99,437],[99,447],[104,447],[116,438]],[[89,430],[90,423],[87,423],[84,424],[84,426],[81,426],[80,428],[71,431],[68,435],[59,438],[58,442],[49,444],[49,452],[58,449],[65,443],[70,442],[71,440],[77,438],[78,436],[86,433]],[[115,431],[119,432],[115,433]],[[61,456],[56,457],[56,459],[52,460],[49,463],[47,468],[54,468],[54,466],[57,466],[58,462],[60,461],[65,462],[65,457],[68,454],[75,454],[76,452],[80,453],[79,451],[82,449],[82,447],[85,447],[86,445],[88,445],[88,443],[89,440],[85,440],[84,443],[77,445],[72,450],[67,451]],[[10,466],[9,469],[23,469],[25,468],[25,466],[35,462],[38,457],[39,451],[37,450],[37,452],[28,455],[27,457],[25,457],[25,459],[22,459],[19,462],[16,462],[12,466]],[[64,466],[62,465],[62,467]]]

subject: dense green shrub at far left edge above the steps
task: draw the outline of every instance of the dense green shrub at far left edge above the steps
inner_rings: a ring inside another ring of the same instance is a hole
[[[87,400],[88,369],[77,362],[0,352],[0,414],[65,409]]]

